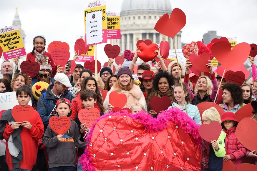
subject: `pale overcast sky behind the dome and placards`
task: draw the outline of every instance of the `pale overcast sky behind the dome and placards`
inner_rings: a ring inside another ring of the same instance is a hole
[[[157,0],[154,0],[158,3]],[[11,26],[15,8],[26,34],[25,49],[33,49],[33,37],[44,35],[47,46],[54,40],[67,42],[73,55],[76,35],[84,34],[83,12],[88,0],[44,0],[44,1],[1,1],[0,28]],[[257,1],[256,0],[174,0],[172,9],[180,8],[187,17],[182,29],[181,41],[199,41],[203,34],[216,30],[217,35],[237,37],[237,43],[257,44]],[[107,11],[120,11],[122,0],[107,0]],[[103,47],[98,46],[98,59],[107,62]],[[101,62],[101,63],[102,63]],[[102,63],[103,64],[103,63]]]

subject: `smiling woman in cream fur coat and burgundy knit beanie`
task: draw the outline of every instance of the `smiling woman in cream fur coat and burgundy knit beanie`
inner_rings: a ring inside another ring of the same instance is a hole
[[[106,95],[104,102],[105,109],[109,111],[114,108],[114,106],[109,103],[109,95],[111,92],[114,91],[119,94],[125,94],[127,96],[127,103],[123,108],[130,108],[132,104],[140,103],[145,109],[147,109],[145,97],[141,89],[137,85],[135,85],[135,81],[132,79],[132,73],[130,69],[128,69],[127,67],[122,67],[121,69],[119,69],[117,79],[118,81],[112,86],[112,88]]]

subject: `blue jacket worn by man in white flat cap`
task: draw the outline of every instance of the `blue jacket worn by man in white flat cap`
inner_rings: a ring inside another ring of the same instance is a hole
[[[54,84],[49,85],[49,87],[47,88],[47,92],[46,92],[46,100],[47,103],[44,99],[44,95],[41,94],[41,96],[38,99],[37,102],[37,112],[39,113],[43,124],[44,124],[44,132],[47,129],[48,123],[49,123],[49,115],[51,114],[51,112],[53,111],[57,101],[59,100],[58,97],[54,96],[53,93],[50,91],[52,90],[54,87]],[[69,94],[69,91],[66,90],[61,96],[60,98],[66,98],[68,99],[70,102],[72,101],[72,97]]]

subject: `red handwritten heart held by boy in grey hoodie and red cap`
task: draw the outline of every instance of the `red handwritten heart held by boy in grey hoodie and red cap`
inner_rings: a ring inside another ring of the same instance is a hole
[[[64,135],[70,127],[70,119],[67,116],[52,116],[49,119],[49,126],[57,135]]]

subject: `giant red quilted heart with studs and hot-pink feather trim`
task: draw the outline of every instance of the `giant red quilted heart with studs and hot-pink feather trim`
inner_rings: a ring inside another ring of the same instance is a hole
[[[83,170],[201,170],[199,125],[185,112],[123,112],[103,115],[91,129]]]

